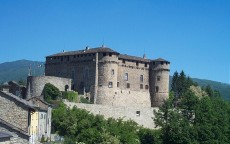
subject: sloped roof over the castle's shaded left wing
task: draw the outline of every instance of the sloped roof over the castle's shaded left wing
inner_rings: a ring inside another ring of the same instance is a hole
[[[78,51],[67,51],[67,52],[61,52],[54,55],[50,55],[47,57],[54,57],[54,56],[68,56],[68,55],[76,55],[76,54],[89,54],[89,53],[97,53],[97,52],[110,52],[110,53],[117,53],[118,52],[112,50],[108,47],[97,47],[97,48],[89,48],[84,50],[78,50]]]

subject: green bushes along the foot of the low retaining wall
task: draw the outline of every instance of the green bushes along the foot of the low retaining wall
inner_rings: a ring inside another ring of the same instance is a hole
[[[141,127],[134,121],[123,121],[122,119],[109,118],[105,120],[101,115],[92,115],[86,110],[67,108],[60,104],[53,110],[52,114],[53,132],[68,137],[68,141],[91,143],[131,143],[139,144],[138,131]],[[144,134],[142,134],[143,136]],[[153,136],[153,138],[151,138]],[[145,135],[149,139],[158,141],[159,134]],[[142,137],[142,140],[144,136]],[[66,140],[66,141],[67,141]]]

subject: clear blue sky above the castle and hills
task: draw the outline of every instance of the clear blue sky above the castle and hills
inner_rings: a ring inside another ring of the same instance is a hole
[[[0,63],[103,44],[230,83],[229,0],[0,0]]]

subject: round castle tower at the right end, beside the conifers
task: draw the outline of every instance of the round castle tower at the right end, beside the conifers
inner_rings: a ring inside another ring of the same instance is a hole
[[[150,62],[149,83],[151,107],[159,107],[169,97],[170,62],[156,59]]]

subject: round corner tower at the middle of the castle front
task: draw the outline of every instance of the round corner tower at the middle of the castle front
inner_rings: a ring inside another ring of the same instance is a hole
[[[96,104],[113,105],[117,90],[117,52],[98,53],[98,89]]]

